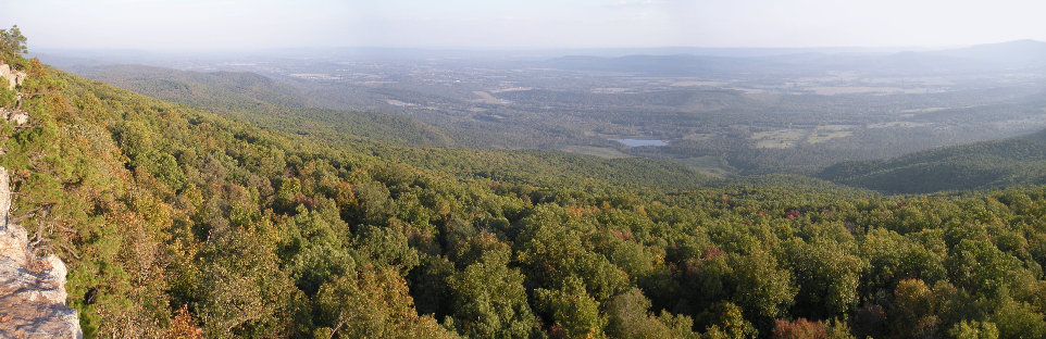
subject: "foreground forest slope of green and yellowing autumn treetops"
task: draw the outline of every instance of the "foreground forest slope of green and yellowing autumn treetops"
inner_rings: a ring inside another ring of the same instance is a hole
[[[1043,187],[673,188],[647,161],[352,148],[4,61],[33,116],[0,130],[13,214],[89,338],[1046,336]]]

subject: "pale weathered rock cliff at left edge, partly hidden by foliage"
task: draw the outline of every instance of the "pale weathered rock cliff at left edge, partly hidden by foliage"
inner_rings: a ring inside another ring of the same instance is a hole
[[[25,76],[11,79],[10,74],[8,65],[0,64],[0,75],[14,84],[10,88]],[[28,121],[22,111],[0,110],[16,125]],[[83,338],[76,310],[65,304],[65,264],[54,254],[36,255],[25,228],[11,222],[11,199],[8,170],[0,167],[0,339]]]

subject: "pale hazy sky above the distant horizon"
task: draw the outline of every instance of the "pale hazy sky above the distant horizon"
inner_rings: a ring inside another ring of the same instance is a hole
[[[0,0],[29,48],[960,46],[1046,41],[1042,0]]]

